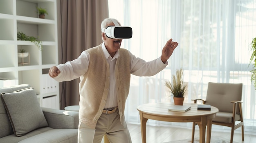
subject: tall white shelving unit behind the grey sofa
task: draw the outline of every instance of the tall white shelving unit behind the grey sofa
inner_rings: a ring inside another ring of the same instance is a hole
[[[45,19],[38,18],[36,7],[47,9]],[[59,109],[58,82],[48,75],[58,64],[56,8],[56,0],[0,0],[0,86],[30,84],[41,106]],[[34,43],[18,41],[18,31],[38,37],[42,51]],[[21,48],[29,52],[29,64],[19,64]]]

